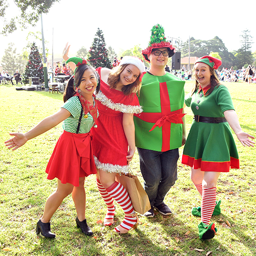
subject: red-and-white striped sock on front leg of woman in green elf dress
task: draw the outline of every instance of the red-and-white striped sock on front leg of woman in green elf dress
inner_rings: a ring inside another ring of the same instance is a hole
[[[205,225],[209,225],[210,218],[216,205],[217,188],[203,188],[202,204],[201,204],[201,221]]]

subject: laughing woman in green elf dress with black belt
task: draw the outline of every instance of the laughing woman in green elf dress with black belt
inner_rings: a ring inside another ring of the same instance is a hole
[[[203,56],[194,66],[195,87],[185,97],[194,120],[184,146],[182,163],[191,166],[191,179],[201,194],[201,207],[192,208],[192,214],[201,216],[199,237],[210,239],[217,229],[210,223],[212,215],[220,214],[220,201],[216,202],[219,174],[239,169],[238,151],[230,127],[243,146],[254,146],[253,136],[242,131],[229,90],[215,73],[221,61]]]

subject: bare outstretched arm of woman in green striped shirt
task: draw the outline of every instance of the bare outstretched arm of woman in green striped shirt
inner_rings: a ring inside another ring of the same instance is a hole
[[[23,133],[9,133],[11,136],[9,140],[5,141],[5,146],[9,149],[15,150],[23,146],[29,139],[37,137],[40,134],[54,128],[63,120],[67,119],[70,116],[70,112],[66,109],[60,109],[55,114],[43,119],[36,127],[32,128],[30,131]]]

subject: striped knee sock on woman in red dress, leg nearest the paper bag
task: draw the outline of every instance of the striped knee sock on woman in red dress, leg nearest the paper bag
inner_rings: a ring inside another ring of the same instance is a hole
[[[137,218],[136,216],[127,216],[127,214],[135,213],[128,192],[122,184],[116,181],[106,188],[106,191],[119,203],[125,212],[125,219],[120,226],[127,230],[131,229],[136,224]]]

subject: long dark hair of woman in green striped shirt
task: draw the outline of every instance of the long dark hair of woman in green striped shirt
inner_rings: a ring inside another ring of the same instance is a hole
[[[90,65],[81,65],[81,66],[77,67],[77,69],[75,70],[74,77],[71,76],[70,79],[68,80],[68,84],[67,84],[64,94],[63,94],[64,102],[66,102],[68,99],[70,99],[71,97],[74,96],[75,87],[78,87],[80,85],[81,80],[82,80],[82,75],[83,75],[84,71],[87,69],[91,69],[96,76],[97,83],[98,83],[97,87],[96,87],[96,93],[98,93],[100,91],[101,80],[100,80],[99,74]]]

